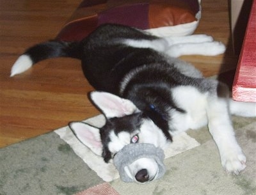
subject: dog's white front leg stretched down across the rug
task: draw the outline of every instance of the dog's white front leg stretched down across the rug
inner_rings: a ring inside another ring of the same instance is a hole
[[[237,175],[246,167],[246,157],[236,141],[227,99],[210,97],[207,116],[209,131],[220,151],[223,168]]]

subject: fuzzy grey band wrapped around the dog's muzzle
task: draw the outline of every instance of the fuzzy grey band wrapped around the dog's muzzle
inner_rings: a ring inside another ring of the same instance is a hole
[[[140,169],[134,176],[137,182],[150,182],[150,180],[157,180],[164,175],[164,151],[161,148],[154,146],[154,144],[148,143],[127,144],[124,146],[124,148],[122,148],[122,150],[116,153],[113,159],[113,163],[119,171],[120,178],[124,182],[134,182],[134,180],[127,175],[125,167],[142,158],[154,159],[158,166],[158,170],[154,178],[150,178],[148,176],[147,169]],[[143,166],[143,164],[141,166]]]

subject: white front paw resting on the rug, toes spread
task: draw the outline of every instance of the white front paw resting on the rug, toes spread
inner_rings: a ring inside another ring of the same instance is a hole
[[[246,168],[246,157],[243,152],[231,152],[221,158],[221,164],[228,173],[238,175]]]

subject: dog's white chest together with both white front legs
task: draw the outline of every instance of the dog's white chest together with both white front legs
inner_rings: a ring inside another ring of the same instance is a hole
[[[169,125],[176,131],[170,133],[175,135],[187,129],[198,129],[208,122],[209,131],[220,151],[223,168],[235,174],[242,171],[246,167],[246,157],[236,141],[228,104],[231,103],[232,113],[242,113],[243,116],[255,116],[256,104],[200,93],[191,86],[179,86],[172,92],[175,102],[186,113],[171,111],[172,122]]]

